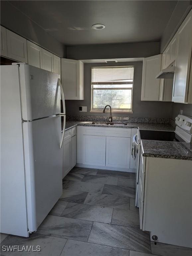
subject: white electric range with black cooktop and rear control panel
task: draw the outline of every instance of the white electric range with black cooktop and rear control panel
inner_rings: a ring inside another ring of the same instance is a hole
[[[132,156],[136,159],[136,199],[135,206],[138,203],[138,187],[139,187],[139,170],[140,170],[140,151],[141,140],[161,140],[174,142],[192,143],[192,117],[178,115],[175,118],[175,131],[157,131],[157,130],[137,130],[137,134],[133,137]]]

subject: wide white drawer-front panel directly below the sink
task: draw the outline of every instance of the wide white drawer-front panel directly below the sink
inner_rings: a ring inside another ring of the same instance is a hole
[[[131,129],[129,128],[111,128],[111,127],[85,127],[84,135],[98,135],[110,137],[131,138]]]

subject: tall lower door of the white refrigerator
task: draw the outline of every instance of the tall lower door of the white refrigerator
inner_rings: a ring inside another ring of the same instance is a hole
[[[61,117],[23,123],[29,231],[37,230],[62,194]]]

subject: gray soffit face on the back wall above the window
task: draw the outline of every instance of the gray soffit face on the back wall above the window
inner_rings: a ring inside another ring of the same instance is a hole
[[[67,46],[67,58],[75,60],[139,58],[159,54],[159,42]]]

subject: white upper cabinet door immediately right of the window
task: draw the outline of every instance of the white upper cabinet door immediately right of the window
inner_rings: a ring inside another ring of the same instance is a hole
[[[158,101],[160,79],[155,76],[161,71],[161,54],[144,58],[141,100]]]

